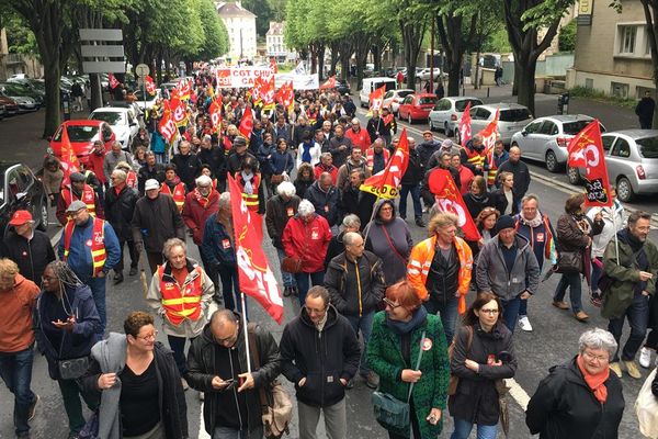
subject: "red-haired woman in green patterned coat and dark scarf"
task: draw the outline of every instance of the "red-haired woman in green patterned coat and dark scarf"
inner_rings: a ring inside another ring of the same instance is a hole
[[[436,438],[443,426],[450,380],[441,319],[428,314],[408,281],[389,286],[384,302],[386,311],[375,314],[367,344],[368,367],[379,375],[379,392],[399,401],[407,401],[410,383],[415,383],[409,401],[411,426],[389,428],[388,436],[406,439],[412,430],[415,439]]]

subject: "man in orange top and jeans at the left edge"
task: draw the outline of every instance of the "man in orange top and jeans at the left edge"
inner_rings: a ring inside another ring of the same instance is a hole
[[[19,273],[19,266],[0,259],[0,375],[14,395],[16,438],[30,437],[27,421],[34,417],[38,402],[30,389],[34,359],[32,312],[39,290]],[[9,408],[9,403],[3,404]]]

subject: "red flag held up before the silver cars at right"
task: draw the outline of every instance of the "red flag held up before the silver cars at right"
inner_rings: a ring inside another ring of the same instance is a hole
[[[593,120],[578,133],[567,147],[569,151],[568,165],[571,168],[585,168],[585,187],[588,206],[612,206],[610,198],[610,181],[601,140],[601,127],[598,120]]]

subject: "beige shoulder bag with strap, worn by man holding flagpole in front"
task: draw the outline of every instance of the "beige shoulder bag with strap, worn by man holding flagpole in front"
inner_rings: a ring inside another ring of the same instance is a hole
[[[256,324],[247,325],[249,334],[249,352],[253,368],[260,368],[260,353],[256,346]],[[252,341],[253,340],[253,341]],[[279,380],[272,381],[270,389],[258,390],[262,410],[263,435],[266,439],[279,439],[283,434],[290,435],[288,424],[293,418],[293,402]]]

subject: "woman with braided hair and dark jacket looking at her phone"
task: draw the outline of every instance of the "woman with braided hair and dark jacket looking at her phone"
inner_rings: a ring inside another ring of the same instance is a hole
[[[42,275],[42,292],[36,302],[35,337],[37,348],[46,357],[48,374],[57,381],[69,420],[69,438],[77,438],[84,426],[82,404],[93,410],[98,401],[86,396],[77,379],[87,372],[91,347],[101,317],[91,289],[84,285],[63,261],[46,266]]]

